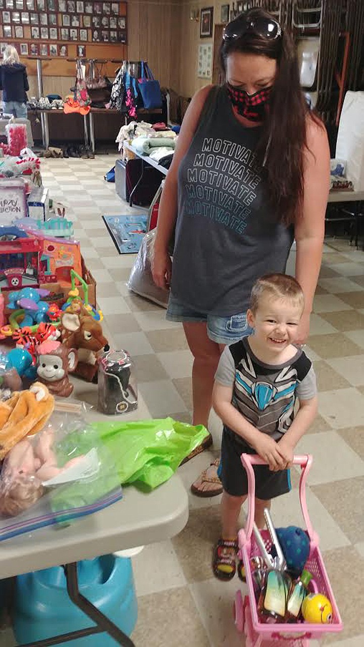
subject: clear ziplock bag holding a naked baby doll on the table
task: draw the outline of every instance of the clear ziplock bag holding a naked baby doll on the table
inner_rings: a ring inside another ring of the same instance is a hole
[[[122,498],[115,463],[100,435],[81,419],[66,416],[60,425],[56,420],[6,456],[0,540],[71,521]]]

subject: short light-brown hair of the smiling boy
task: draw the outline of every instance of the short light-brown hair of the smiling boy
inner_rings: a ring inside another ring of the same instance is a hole
[[[303,310],[304,296],[301,285],[288,274],[266,274],[255,281],[250,297],[250,309],[256,313],[259,301],[266,294],[273,299],[288,299]]]

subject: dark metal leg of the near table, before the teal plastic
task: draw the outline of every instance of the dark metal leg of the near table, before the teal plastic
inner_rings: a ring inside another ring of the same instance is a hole
[[[111,620],[109,620],[104,613],[101,613],[87,598],[80,593],[78,589],[78,578],[77,578],[77,564],[65,565],[65,576],[67,580],[67,593],[71,598],[73,604],[81,609],[89,617],[92,622],[95,622],[96,626],[88,627],[86,629],[79,629],[78,631],[70,631],[69,633],[63,633],[62,635],[52,636],[52,638],[45,638],[43,641],[28,642],[23,645],[23,647],[50,647],[51,645],[59,644],[60,642],[69,642],[74,641],[78,638],[84,636],[92,635],[93,633],[101,633],[105,631],[108,633],[111,638],[113,638],[117,644],[121,647],[135,647],[135,644],[131,639],[121,631],[119,627],[116,626]]]

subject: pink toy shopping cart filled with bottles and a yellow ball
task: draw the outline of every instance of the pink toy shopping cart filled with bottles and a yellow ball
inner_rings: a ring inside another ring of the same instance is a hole
[[[343,625],[306,505],[306,479],[311,456],[295,456],[302,468],[299,485],[306,531],[290,526],[275,529],[264,510],[267,530],[254,523],[255,474],[263,465],[258,456],[242,455],[248,477],[249,514],[238,534],[238,574],[248,595],[239,590],[234,603],[235,624],[245,633],[246,647],[309,647],[310,639],[341,631]]]

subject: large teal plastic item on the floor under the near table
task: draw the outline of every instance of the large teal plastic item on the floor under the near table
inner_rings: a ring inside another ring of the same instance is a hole
[[[78,562],[80,593],[130,635],[137,622],[137,598],[131,560],[113,554]],[[62,567],[17,576],[14,634],[18,644],[92,626],[69,599]],[[106,633],[60,642],[64,647],[116,647]]]

